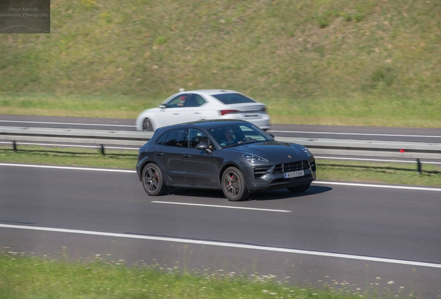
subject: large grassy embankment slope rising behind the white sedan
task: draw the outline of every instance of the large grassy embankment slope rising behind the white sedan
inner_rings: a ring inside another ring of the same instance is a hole
[[[235,89],[273,123],[441,127],[438,1],[51,1],[0,35],[0,114],[135,118]]]

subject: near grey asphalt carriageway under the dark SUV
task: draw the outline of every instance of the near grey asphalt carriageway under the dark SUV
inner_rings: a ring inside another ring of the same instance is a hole
[[[132,171],[0,165],[0,246],[72,259],[178,262],[437,298],[440,215],[440,190],[319,181],[304,194],[233,203],[202,190],[148,197]]]

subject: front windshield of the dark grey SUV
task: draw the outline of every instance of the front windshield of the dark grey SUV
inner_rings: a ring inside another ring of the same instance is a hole
[[[221,147],[239,146],[273,140],[268,134],[252,123],[225,125],[223,127],[209,129],[209,132]]]

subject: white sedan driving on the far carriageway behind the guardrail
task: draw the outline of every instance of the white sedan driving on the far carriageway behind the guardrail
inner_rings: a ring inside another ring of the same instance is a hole
[[[241,119],[270,129],[266,105],[238,91],[205,89],[175,93],[158,107],[139,114],[138,131],[155,131],[159,127],[196,120]]]

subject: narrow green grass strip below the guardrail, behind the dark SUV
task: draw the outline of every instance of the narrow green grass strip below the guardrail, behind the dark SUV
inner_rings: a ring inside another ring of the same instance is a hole
[[[90,167],[123,168],[135,170],[136,151],[76,148],[44,148],[19,145],[17,152],[12,147],[0,147],[0,162],[77,165]],[[55,152],[54,152],[55,151]],[[441,167],[422,164],[422,174],[417,173],[416,163],[368,163],[363,161],[317,160],[318,179],[336,181],[365,181],[396,183],[404,185],[441,186]]]

